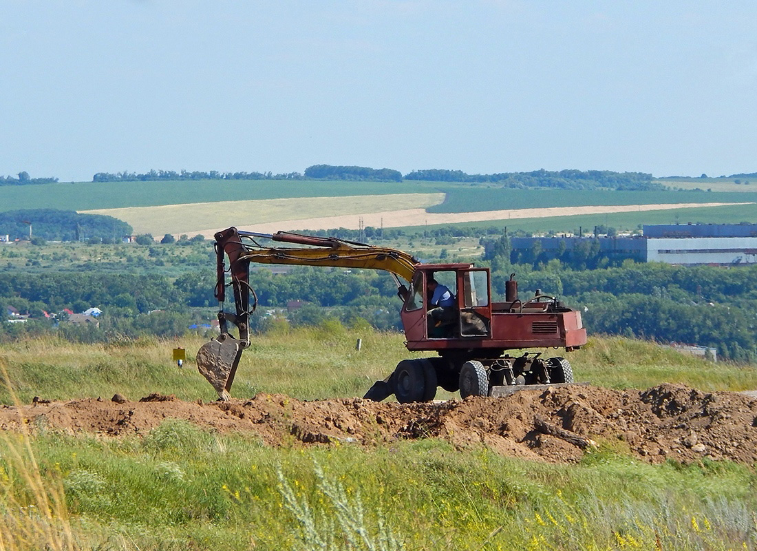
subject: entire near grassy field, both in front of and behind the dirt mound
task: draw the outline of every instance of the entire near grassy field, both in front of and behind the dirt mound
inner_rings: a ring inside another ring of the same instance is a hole
[[[245,353],[233,393],[359,396],[411,356],[402,340],[335,325],[274,331]],[[179,369],[170,359],[174,346],[191,356],[201,343],[26,340],[0,345],[0,364],[22,402],[115,392],[210,400],[193,362]],[[757,388],[755,368],[634,340],[593,338],[570,358],[578,379],[610,387]],[[8,390],[0,399],[11,401]],[[610,442],[578,465],[547,465],[441,440],[269,448],[167,420],[144,438],[5,434],[0,541],[19,550],[755,549],[755,485],[747,466],[646,465]]]

